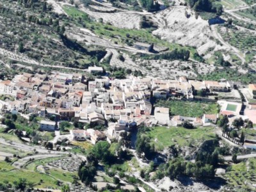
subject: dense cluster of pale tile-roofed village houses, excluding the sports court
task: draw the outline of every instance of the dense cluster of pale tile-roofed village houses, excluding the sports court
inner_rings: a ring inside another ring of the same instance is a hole
[[[102,68],[91,68],[90,72],[93,71],[100,72]],[[83,74],[24,73],[15,76],[12,81],[1,81],[0,93],[15,97],[14,101],[8,101],[12,113],[34,113],[44,118],[40,122],[40,129],[44,131],[58,128],[56,122],[49,120],[51,116],[58,117],[58,121],[72,119],[107,125],[108,129],[104,132],[93,129],[71,131],[74,140],[90,138],[95,143],[102,138],[119,140],[122,132],[142,123],[180,125],[185,120],[193,125],[216,123],[217,114],[200,118],[170,118],[168,108],[157,107],[152,111],[150,99],[166,99],[170,95],[193,99],[195,90],[225,92],[234,88],[234,84],[237,83],[192,81],[186,77],[163,80],[134,76],[127,79],[109,79],[102,76],[88,80]]]

